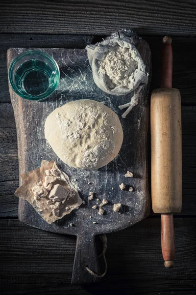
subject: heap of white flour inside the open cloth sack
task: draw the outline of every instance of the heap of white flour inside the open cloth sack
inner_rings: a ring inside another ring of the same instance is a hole
[[[105,82],[110,89],[117,86],[129,88],[134,79],[133,73],[138,68],[138,62],[134,58],[134,51],[117,45],[99,61],[99,73],[106,74]]]

